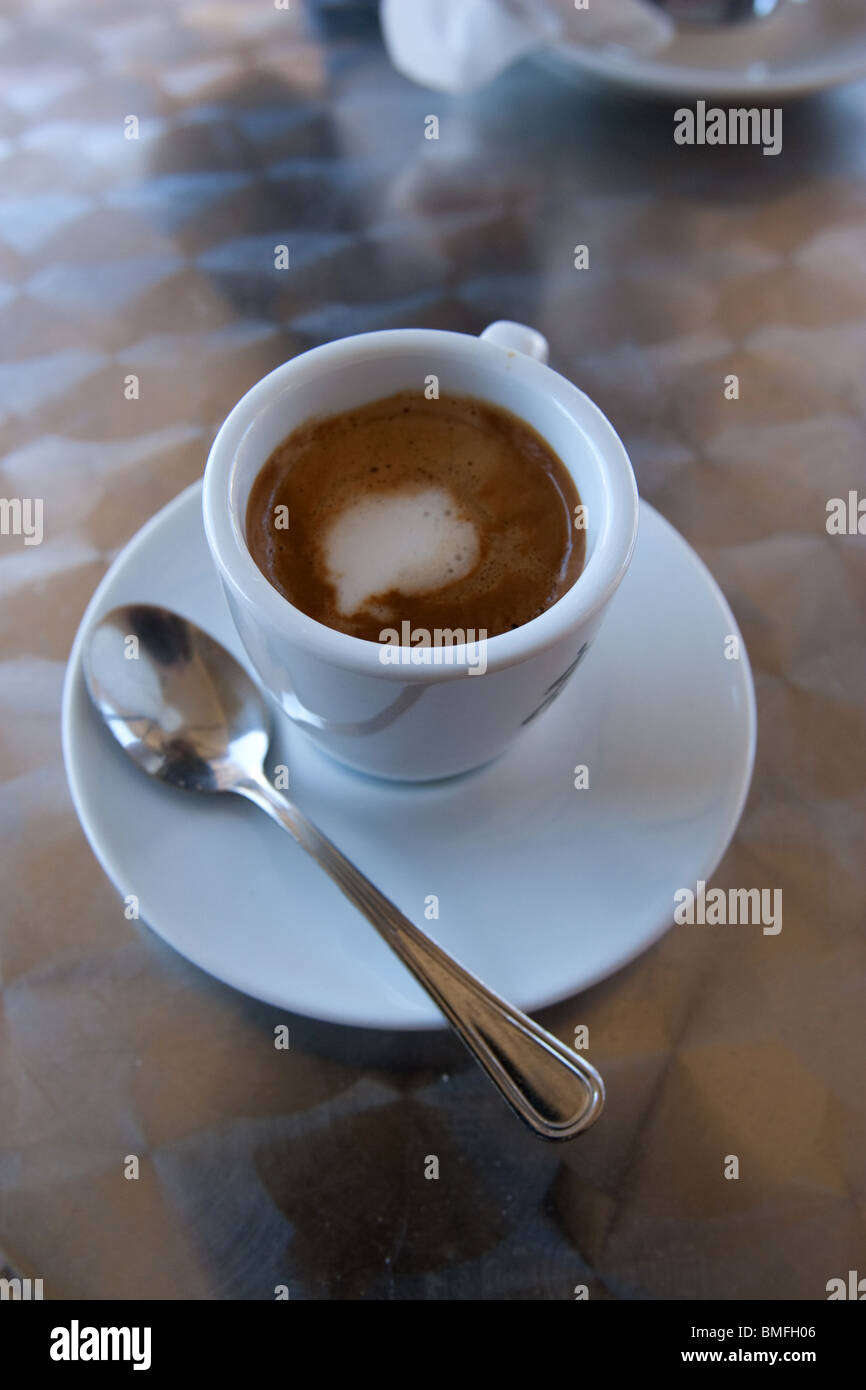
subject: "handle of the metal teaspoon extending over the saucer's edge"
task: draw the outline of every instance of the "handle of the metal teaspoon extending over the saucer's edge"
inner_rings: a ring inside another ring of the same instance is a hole
[[[232,790],[288,830],[364,913],[530,1129],[544,1138],[573,1138],[598,1119],[605,1086],[589,1062],[500,999],[425,937],[264,776],[245,777]]]

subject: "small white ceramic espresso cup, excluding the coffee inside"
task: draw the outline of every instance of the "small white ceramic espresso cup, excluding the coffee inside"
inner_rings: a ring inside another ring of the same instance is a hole
[[[541,334],[512,322],[480,338],[414,328],[342,338],[271,371],[214,439],[204,530],[243,646],[277,706],[349,767],[427,781],[489,762],[563,689],[592,644],[631,559],[638,493],[612,424],[546,359]],[[399,642],[395,634],[381,645],[348,637],[293,607],[249,552],[250,489],[277,445],[310,420],[407,389],[503,406],[546,439],[577,485],[584,569],[556,603],[510,632],[457,631],[439,646],[413,645],[403,624]]]

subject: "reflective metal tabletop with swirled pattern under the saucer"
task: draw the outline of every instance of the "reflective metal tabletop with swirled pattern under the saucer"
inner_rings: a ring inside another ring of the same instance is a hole
[[[531,63],[411,86],[370,7],[240,0],[13,6],[0,70],[0,492],[44,499],[40,545],[0,538],[0,1266],[79,1298],[824,1298],[862,1268],[866,550],[826,518],[865,488],[866,89],[787,107],[777,157],[696,149]],[[493,318],[549,338],[727,594],[759,749],[713,883],[784,892],[778,935],[673,927],[545,1013],[607,1083],[563,1147],[448,1034],[286,1019],[128,922],[60,752],[86,602],[238,396],[334,336]]]

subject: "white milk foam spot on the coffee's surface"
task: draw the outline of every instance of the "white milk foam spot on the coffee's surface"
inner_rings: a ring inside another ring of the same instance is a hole
[[[324,537],[341,613],[388,589],[425,594],[461,580],[478,562],[475,527],[443,488],[359,498]]]

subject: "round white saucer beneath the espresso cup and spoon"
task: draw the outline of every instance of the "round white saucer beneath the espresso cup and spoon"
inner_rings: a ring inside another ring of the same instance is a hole
[[[85,833],[140,917],[203,970],[296,1013],[379,1029],[442,1017],[317,865],[252,806],[149,781],[92,709],[81,653],[118,603],[163,603],[243,659],[202,528],[200,485],[114,562],[64,688],[67,774]],[[645,951],[677,888],[709,878],[755,753],[737,624],[694,550],[642,503],[628,571],[591,656],[500,759],[428,785],[339,767],[292,726],[272,762],[297,803],[487,984],[535,1011]],[[246,663],[249,664],[249,663]],[[285,726],[285,727],[284,727]],[[589,788],[574,790],[575,764]],[[439,899],[438,920],[424,916]]]

